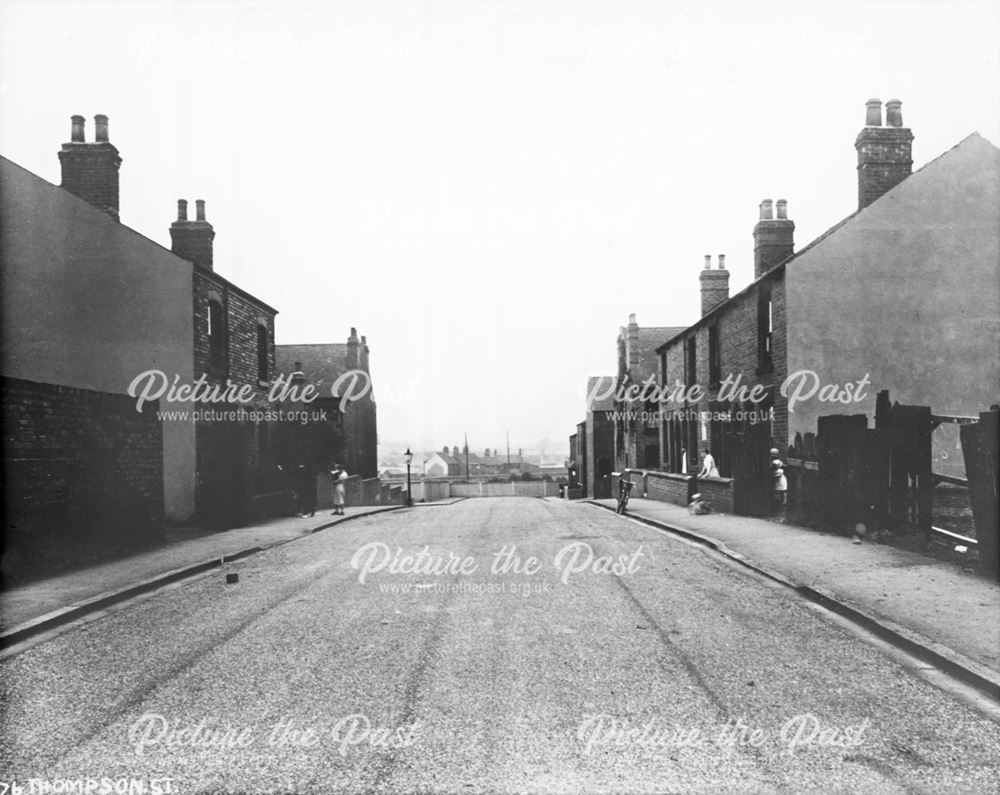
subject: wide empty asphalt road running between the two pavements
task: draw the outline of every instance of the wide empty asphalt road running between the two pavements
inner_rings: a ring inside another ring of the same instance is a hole
[[[232,570],[0,663],[0,782],[998,791],[1000,725],[790,592],[593,506],[418,507]]]

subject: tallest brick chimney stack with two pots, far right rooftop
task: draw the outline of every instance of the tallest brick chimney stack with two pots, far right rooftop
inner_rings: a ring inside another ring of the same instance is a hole
[[[903,126],[903,103],[868,100],[865,126],[854,141],[858,150],[858,209],[863,210],[895,188],[913,170],[913,133]]]

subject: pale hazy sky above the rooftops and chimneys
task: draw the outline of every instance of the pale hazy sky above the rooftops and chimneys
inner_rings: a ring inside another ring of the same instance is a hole
[[[0,0],[0,152],[56,184],[110,117],[121,220],[215,267],[277,342],[368,336],[383,441],[565,444],[641,325],[753,273],[763,198],[801,247],[856,207],[865,100],[914,167],[1000,143],[995,2]]]

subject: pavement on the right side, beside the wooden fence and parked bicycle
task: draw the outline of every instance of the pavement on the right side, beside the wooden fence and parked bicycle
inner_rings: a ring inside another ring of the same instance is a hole
[[[594,500],[613,509],[614,500]],[[1000,584],[916,552],[633,498],[628,513],[684,531],[769,576],[852,609],[1000,692]],[[953,673],[957,673],[953,671]]]

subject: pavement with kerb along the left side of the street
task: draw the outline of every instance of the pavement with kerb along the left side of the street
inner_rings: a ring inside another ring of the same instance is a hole
[[[66,623],[87,612],[137,593],[333,527],[344,521],[394,510],[398,506],[329,510],[314,517],[271,519],[223,532],[192,528],[167,530],[166,543],[126,558],[26,583],[0,592],[3,645]]]

